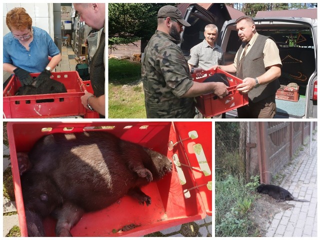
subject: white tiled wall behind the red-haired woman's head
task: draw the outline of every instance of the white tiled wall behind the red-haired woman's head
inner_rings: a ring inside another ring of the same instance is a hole
[[[49,33],[53,39],[53,15],[52,3],[3,3],[3,35],[9,32],[9,28],[6,26],[5,17],[6,13],[14,7],[24,7],[26,12],[32,18],[32,26],[37,26]]]

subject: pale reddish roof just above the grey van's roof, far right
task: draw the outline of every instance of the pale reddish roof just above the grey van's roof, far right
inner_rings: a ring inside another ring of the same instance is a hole
[[[317,8],[309,9],[296,9],[296,10],[272,10],[272,11],[258,11],[255,17],[309,17],[311,19],[316,19]]]

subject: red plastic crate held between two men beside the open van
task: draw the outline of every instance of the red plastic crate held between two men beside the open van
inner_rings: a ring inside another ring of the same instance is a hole
[[[228,87],[229,94],[221,99],[213,93],[195,97],[195,106],[204,117],[215,116],[249,103],[248,95],[241,94],[238,90],[236,90],[236,86],[242,83],[242,80],[219,68],[216,70],[203,71],[202,74],[206,75],[202,77],[196,78],[195,74],[192,74],[192,77],[194,81],[203,82],[207,77],[213,75],[214,73],[223,73],[227,76],[230,85]]]

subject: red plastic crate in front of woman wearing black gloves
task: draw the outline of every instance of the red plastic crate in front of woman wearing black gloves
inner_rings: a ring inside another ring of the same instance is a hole
[[[32,77],[39,73],[31,73]],[[3,90],[3,118],[45,118],[83,115],[98,117],[97,113],[88,111],[81,103],[85,85],[77,71],[51,72],[52,78],[62,82],[67,89],[65,93],[15,96],[20,81],[15,75]],[[87,83],[89,84],[89,82]],[[89,84],[90,85],[90,84]],[[88,91],[93,92],[88,87]],[[52,102],[38,102],[51,99]]]

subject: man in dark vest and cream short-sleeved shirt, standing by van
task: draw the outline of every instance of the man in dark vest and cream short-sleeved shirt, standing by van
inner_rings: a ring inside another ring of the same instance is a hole
[[[237,89],[248,94],[249,104],[237,108],[239,118],[273,118],[275,92],[280,87],[277,78],[282,66],[279,50],[271,38],[256,32],[252,17],[241,16],[235,22],[242,44],[234,62],[212,68],[236,72],[236,76],[243,79]]]

